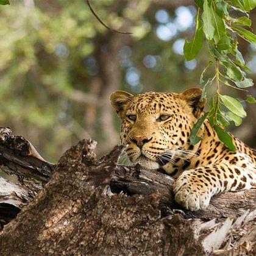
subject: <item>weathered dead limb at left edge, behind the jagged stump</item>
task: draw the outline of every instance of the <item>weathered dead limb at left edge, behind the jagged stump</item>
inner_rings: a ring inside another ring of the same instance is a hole
[[[28,140],[0,127],[0,230],[44,187],[53,170]]]

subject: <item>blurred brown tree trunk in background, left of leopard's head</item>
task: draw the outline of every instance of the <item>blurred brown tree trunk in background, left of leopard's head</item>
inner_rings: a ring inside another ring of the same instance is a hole
[[[112,9],[135,9],[136,1],[116,2]],[[126,19],[122,26],[122,30],[129,31],[134,21]],[[108,41],[108,44],[104,42]],[[99,35],[96,39],[96,50],[94,55],[99,65],[99,90],[97,96],[99,99],[98,113],[100,113],[100,126],[96,126],[96,116],[94,116],[94,131],[97,133],[102,131],[103,143],[98,148],[99,152],[105,149],[113,148],[118,143],[116,134],[113,111],[109,104],[110,94],[118,90],[121,84],[121,68],[119,64],[119,50],[130,43],[130,35],[117,34],[115,32],[106,31],[104,35]],[[88,115],[87,110],[87,115]]]

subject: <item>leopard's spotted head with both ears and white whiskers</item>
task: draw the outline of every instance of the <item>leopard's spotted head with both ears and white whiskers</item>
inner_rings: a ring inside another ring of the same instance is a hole
[[[181,155],[189,157],[185,152],[196,151],[198,146],[190,144],[190,132],[206,102],[199,101],[201,94],[200,88],[180,94],[112,93],[110,102],[122,120],[121,144],[127,145],[130,161],[157,169]]]

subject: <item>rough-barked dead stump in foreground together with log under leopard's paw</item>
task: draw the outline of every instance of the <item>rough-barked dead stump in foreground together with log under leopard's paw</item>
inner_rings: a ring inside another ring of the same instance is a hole
[[[225,193],[205,211],[185,212],[173,201],[170,177],[116,167],[122,147],[96,162],[95,147],[83,140],[60,158],[0,232],[1,255],[256,254],[255,191]]]

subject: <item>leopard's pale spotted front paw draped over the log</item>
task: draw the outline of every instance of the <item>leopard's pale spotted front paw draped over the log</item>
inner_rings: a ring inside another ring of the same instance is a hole
[[[175,200],[188,210],[205,209],[212,197],[208,187],[194,179],[190,171],[185,171],[174,183]]]

